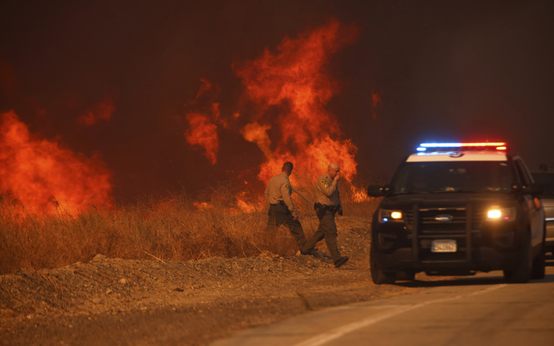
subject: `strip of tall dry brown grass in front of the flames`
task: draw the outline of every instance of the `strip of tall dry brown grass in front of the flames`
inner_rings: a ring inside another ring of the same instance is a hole
[[[60,212],[40,215],[22,210],[9,198],[0,199],[0,274],[54,268],[87,262],[96,254],[125,259],[170,261],[206,257],[246,257],[263,252],[293,255],[297,248],[285,227],[266,232],[267,208],[260,200],[246,201],[258,211],[242,212],[231,188],[209,190],[196,199],[210,208],[197,208],[186,194],[168,199],[143,199],[116,210],[91,208],[77,216]],[[312,206],[294,197],[306,236],[318,222]],[[347,218],[341,223],[370,219],[375,200],[344,199]],[[339,225],[340,226],[340,225]],[[344,227],[344,226],[343,226]]]

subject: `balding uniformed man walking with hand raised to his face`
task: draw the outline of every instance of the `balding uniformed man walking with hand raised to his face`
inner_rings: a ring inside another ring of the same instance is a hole
[[[348,261],[348,256],[341,256],[337,246],[337,224],[334,223],[336,212],[342,215],[342,204],[339,196],[340,167],[337,163],[330,163],[328,172],[317,180],[316,215],[319,227],[301,248],[303,255],[311,255],[317,242],[325,238],[325,244],[334,260],[334,266],[339,268]]]

